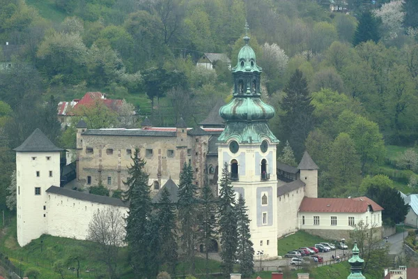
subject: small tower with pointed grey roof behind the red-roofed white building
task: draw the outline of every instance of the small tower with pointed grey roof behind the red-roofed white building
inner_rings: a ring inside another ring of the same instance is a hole
[[[314,160],[304,151],[302,160],[297,166],[300,169],[300,180],[305,183],[305,196],[318,197],[318,169]]]

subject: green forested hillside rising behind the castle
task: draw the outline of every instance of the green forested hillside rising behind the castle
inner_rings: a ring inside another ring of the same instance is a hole
[[[222,61],[215,70],[196,62],[218,52],[235,66],[246,21],[263,99],[277,112],[270,128],[296,161],[309,151],[320,195],[362,195],[363,178],[379,173],[415,191],[418,3],[385,2],[348,0],[340,13],[320,0],[0,0],[0,204],[11,149],[34,128],[61,146],[74,141],[56,120],[60,100],[101,91],[155,126],[180,115],[199,123],[232,81]],[[411,149],[394,158],[389,144]]]

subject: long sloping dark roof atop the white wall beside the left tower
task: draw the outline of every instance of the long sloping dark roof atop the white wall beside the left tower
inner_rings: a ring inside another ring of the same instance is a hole
[[[115,199],[114,197],[104,197],[99,195],[88,194],[75,190],[65,189],[61,187],[51,186],[47,189],[47,193],[61,195],[65,197],[72,197],[73,199],[81,199],[88,202],[96,202],[98,204],[111,204],[114,206],[128,207],[129,202],[123,202],[121,199]]]

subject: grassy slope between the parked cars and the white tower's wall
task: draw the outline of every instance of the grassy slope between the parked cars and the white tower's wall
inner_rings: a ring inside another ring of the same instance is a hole
[[[328,242],[319,236],[308,234],[307,232],[298,231],[295,234],[286,236],[283,239],[277,241],[277,251],[279,255],[283,256],[286,252],[300,248],[300,247],[311,247],[316,243]]]

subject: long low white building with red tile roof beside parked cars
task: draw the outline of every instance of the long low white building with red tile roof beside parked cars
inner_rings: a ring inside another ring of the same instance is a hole
[[[363,220],[381,232],[382,210],[382,206],[368,197],[304,197],[298,213],[299,228],[325,239],[342,239],[348,238],[354,225]]]

